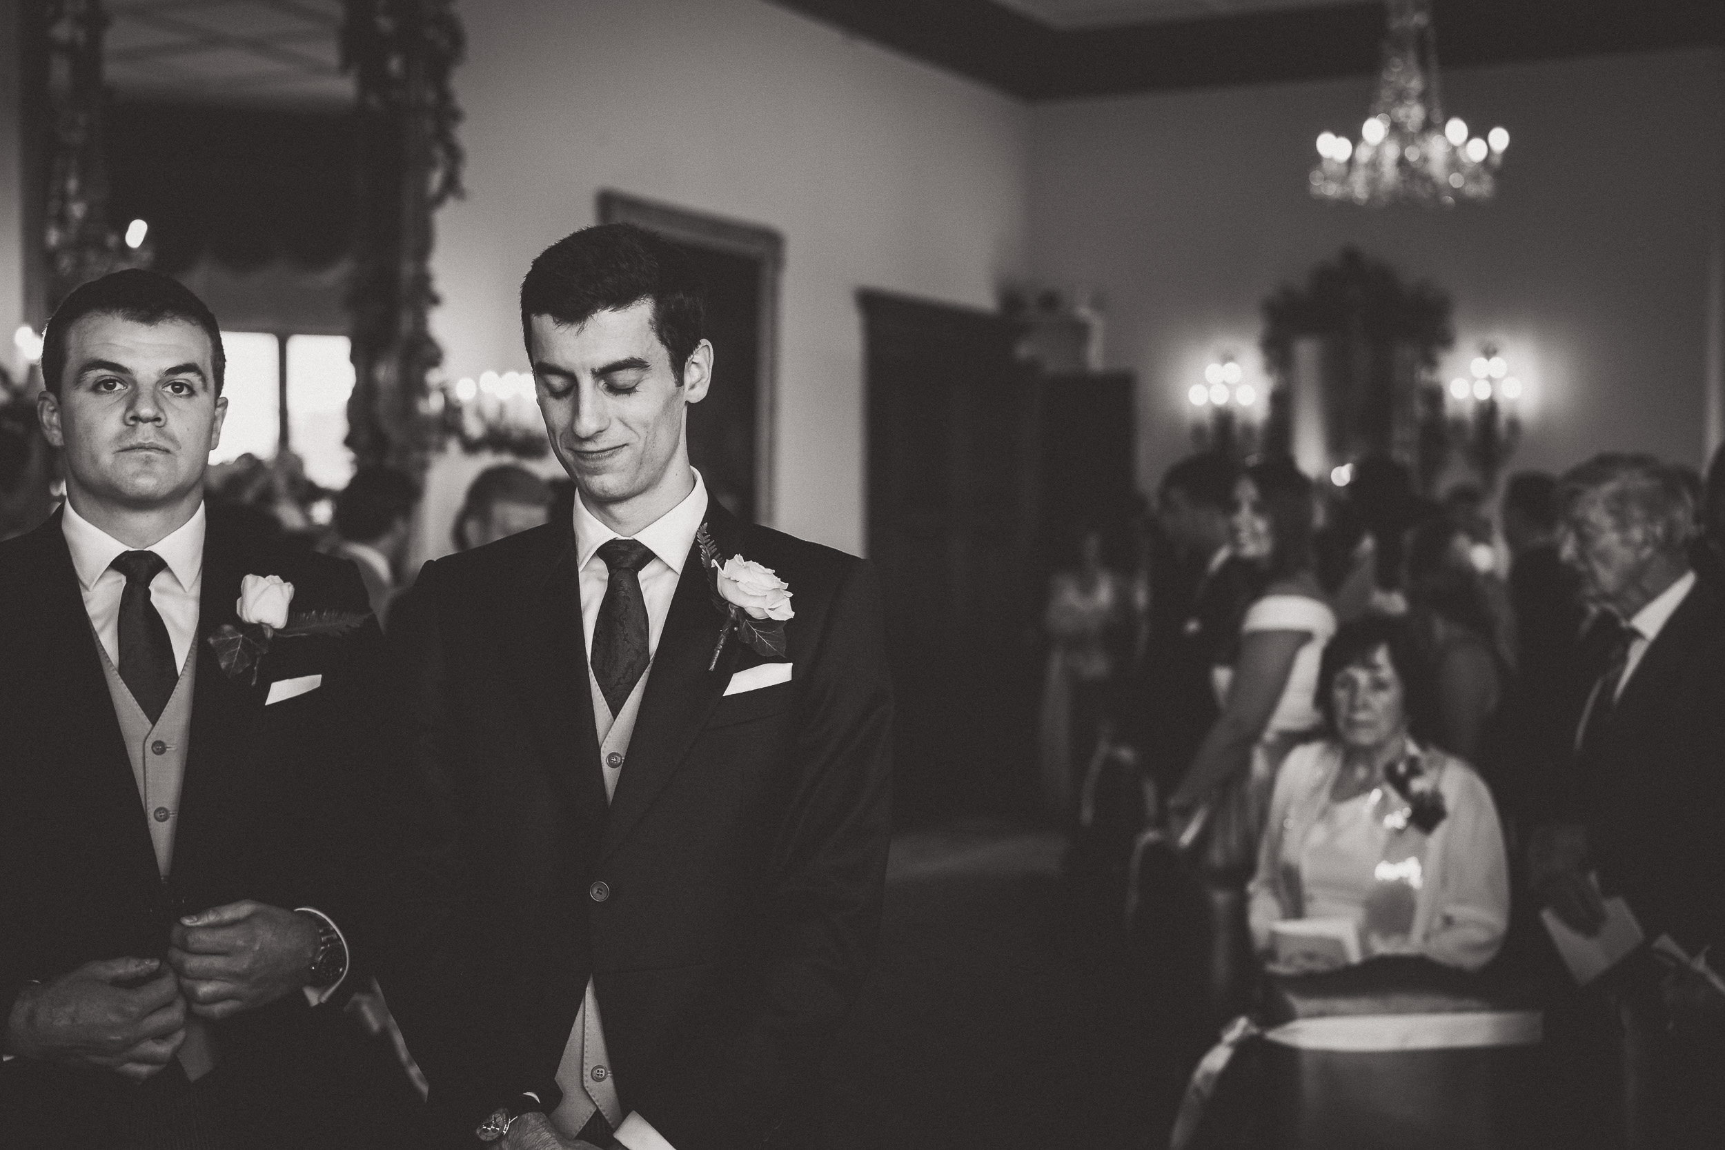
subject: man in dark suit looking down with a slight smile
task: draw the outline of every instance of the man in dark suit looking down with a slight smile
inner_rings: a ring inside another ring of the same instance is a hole
[[[392,634],[426,817],[385,991],[450,1145],[807,1145],[885,881],[873,571],[707,497],[669,243],[574,233],[521,317],[578,498],[428,564]]]

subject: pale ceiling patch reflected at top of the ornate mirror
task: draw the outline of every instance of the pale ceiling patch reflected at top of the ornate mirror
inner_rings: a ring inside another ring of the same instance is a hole
[[[340,69],[342,0],[110,0],[109,84],[145,100],[331,107],[354,102]]]

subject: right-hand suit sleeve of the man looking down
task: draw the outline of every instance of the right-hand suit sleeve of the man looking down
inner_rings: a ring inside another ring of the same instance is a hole
[[[892,683],[878,583],[844,574],[806,657],[795,786],[752,929],[628,1103],[676,1150],[761,1145],[800,1097],[880,934]]]

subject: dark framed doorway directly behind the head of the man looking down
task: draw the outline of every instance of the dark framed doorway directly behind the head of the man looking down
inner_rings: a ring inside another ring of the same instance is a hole
[[[773,367],[778,274],[776,231],[599,193],[599,221],[657,231],[695,262],[706,283],[712,388],[688,409],[688,459],[712,498],[752,522],[771,522]]]

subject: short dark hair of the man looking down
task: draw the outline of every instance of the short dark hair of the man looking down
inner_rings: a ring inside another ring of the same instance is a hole
[[[700,274],[676,245],[635,224],[583,228],[538,253],[521,281],[521,340],[531,355],[535,316],[573,328],[643,300],[652,302],[654,334],[681,384],[700,345]]]

